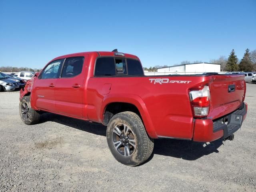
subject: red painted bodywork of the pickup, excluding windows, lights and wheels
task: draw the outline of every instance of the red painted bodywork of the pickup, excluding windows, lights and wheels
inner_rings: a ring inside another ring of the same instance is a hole
[[[114,56],[114,52],[83,52],[54,60],[74,56],[84,56],[81,74],[74,78],[44,80],[34,77],[20,91],[20,99],[31,92],[31,105],[36,110],[93,122],[103,122],[105,109],[111,102],[126,102],[138,108],[151,138],[164,136],[204,142],[223,136],[222,130],[213,133],[212,120],[238,109],[244,99],[243,75],[94,77],[96,58]],[[164,78],[163,82],[170,83],[154,84],[150,78]],[[188,92],[206,84],[210,88],[209,114],[207,119],[194,120]],[[236,85],[236,91],[228,93],[231,84]]]

